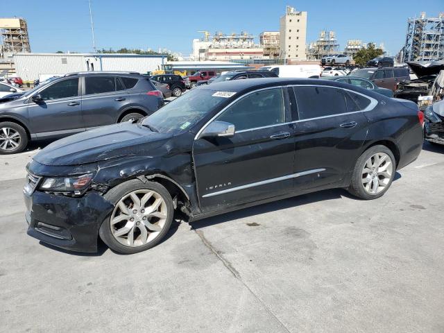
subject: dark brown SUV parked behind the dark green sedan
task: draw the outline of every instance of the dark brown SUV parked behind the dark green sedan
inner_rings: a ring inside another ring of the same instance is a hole
[[[348,75],[366,78],[381,88],[391,89],[395,91],[396,85],[402,80],[410,78],[409,69],[406,67],[368,67],[357,69]]]

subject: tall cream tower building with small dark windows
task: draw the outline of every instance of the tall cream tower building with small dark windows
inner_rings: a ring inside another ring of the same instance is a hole
[[[280,18],[280,53],[288,60],[306,60],[307,12],[298,12],[287,6],[287,12]]]

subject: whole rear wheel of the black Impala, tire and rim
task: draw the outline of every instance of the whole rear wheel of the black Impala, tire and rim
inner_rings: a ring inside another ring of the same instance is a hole
[[[395,172],[391,150],[382,145],[370,147],[358,158],[348,191],[364,200],[379,198],[390,187]]]

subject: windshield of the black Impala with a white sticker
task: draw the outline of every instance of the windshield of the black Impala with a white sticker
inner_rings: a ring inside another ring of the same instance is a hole
[[[142,126],[160,133],[180,133],[189,130],[217,105],[226,101],[226,96],[214,96],[214,90],[191,89],[187,94],[169,102],[151,116],[144,118]],[[231,93],[232,94],[232,93]]]

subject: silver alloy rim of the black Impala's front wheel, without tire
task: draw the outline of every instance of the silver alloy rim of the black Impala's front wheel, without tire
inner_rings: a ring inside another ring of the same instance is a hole
[[[137,189],[123,196],[114,208],[111,233],[124,246],[144,246],[163,230],[167,212],[167,203],[160,194]]]

